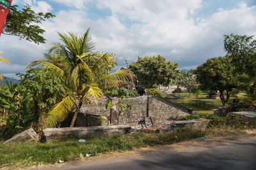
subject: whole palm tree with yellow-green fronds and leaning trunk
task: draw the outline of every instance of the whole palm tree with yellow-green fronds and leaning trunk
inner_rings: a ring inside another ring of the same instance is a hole
[[[104,89],[127,83],[131,76],[126,70],[110,74],[111,67],[116,63],[115,58],[112,53],[93,53],[95,45],[92,43],[89,29],[83,36],[70,32],[58,34],[63,44],[53,43],[49,53],[45,55],[46,58],[31,62],[29,67],[51,67],[65,78],[70,94],[52,107],[48,113],[47,123],[54,127],[74,110],[70,124],[70,127],[73,127],[83,102],[99,99],[103,96]]]

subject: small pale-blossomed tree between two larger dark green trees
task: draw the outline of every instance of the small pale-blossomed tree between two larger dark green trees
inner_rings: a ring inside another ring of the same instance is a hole
[[[183,73],[180,77],[180,80],[177,81],[177,85],[188,89],[190,97],[192,88],[195,87],[195,85],[197,84],[196,75],[192,74],[191,71],[189,71],[187,73]]]

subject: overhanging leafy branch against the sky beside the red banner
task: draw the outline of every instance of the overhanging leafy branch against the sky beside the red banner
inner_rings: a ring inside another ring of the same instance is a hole
[[[3,34],[19,36],[20,39],[33,41],[36,44],[45,43],[46,39],[40,35],[45,31],[38,24],[55,16],[52,13],[35,13],[29,5],[25,5],[22,10],[18,10],[18,7],[17,5],[10,7]]]

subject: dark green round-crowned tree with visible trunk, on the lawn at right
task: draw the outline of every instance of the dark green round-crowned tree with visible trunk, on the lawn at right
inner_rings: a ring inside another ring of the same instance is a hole
[[[233,88],[237,88],[237,74],[234,70],[230,57],[227,55],[208,59],[197,67],[195,74],[202,89],[220,91],[221,103],[225,106],[230,92]]]

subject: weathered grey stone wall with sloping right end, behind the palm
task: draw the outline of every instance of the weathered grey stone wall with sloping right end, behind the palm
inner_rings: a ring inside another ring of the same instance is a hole
[[[118,99],[115,99],[117,103]],[[110,120],[111,111],[106,110],[106,99],[101,99],[92,104],[83,104],[77,116],[76,126],[86,126],[86,114],[102,115]],[[138,125],[145,117],[154,117],[156,120],[171,120],[188,115],[189,110],[178,104],[172,103],[163,97],[140,96],[124,99],[123,103],[132,103],[131,110],[123,110],[119,117],[119,125]]]

